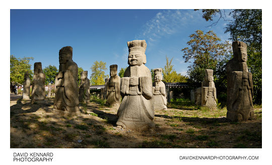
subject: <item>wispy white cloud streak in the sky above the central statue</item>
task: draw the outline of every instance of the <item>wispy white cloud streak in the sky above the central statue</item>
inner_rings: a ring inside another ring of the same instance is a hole
[[[163,36],[173,35],[180,32],[183,26],[188,25],[197,12],[180,11],[180,10],[166,10],[148,21],[136,38],[145,38],[149,45],[156,42]]]

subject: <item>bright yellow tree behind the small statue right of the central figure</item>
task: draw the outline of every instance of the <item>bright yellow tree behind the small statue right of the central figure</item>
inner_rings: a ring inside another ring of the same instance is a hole
[[[180,73],[177,74],[175,69],[173,69],[174,65],[172,65],[172,60],[173,60],[173,58],[169,62],[169,59],[166,56],[166,65],[162,69],[163,81],[165,81],[165,82],[186,82],[187,78],[185,76],[181,75]]]

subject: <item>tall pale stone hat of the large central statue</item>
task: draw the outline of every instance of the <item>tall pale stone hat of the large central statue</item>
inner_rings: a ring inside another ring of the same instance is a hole
[[[130,53],[144,54],[143,64],[147,63],[147,57],[146,57],[146,54],[145,54],[146,48],[147,48],[146,40],[128,41],[127,42],[127,47],[128,47],[128,54],[130,54]]]

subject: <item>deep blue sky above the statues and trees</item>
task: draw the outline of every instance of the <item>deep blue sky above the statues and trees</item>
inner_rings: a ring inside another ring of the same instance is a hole
[[[228,13],[228,11],[226,11]],[[149,69],[163,68],[166,55],[173,58],[177,73],[186,75],[189,63],[182,59],[189,35],[196,30],[213,30],[222,40],[227,22],[216,26],[193,10],[11,10],[10,53],[17,58],[33,57],[42,67],[58,68],[58,50],[73,47],[73,61],[88,71],[95,61],[127,67],[127,41],[147,41]],[[228,15],[226,14],[228,17]],[[217,20],[216,18],[214,20]]]

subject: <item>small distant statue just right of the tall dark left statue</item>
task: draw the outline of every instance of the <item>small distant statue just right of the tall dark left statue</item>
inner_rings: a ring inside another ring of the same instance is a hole
[[[90,102],[90,80],[88,79],[88,71],[81,72],[79,101],[84,103]]]

